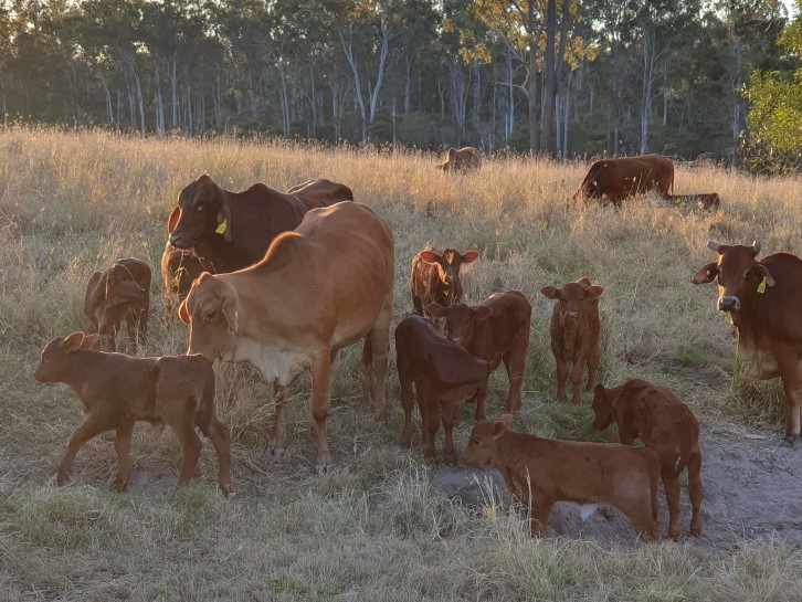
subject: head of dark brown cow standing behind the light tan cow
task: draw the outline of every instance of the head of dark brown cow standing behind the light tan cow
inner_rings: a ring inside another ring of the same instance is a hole
[[[178,207],[172,210],[167,229],[170,244],[178,249],[190,249],[213,236],[230,242],[231,210],[225,191],[205,175],[187,184],[178,196]]]

